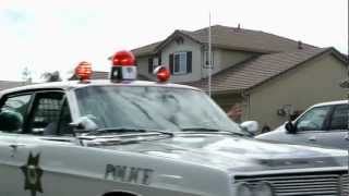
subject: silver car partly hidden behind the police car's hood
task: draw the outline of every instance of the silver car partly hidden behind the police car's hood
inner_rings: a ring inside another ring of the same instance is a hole
[[[256,138],[348,149],[348,100],[314,105],[293,122],[287,122]]]

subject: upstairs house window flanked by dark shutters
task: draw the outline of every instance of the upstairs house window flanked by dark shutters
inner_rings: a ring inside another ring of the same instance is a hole
[[[173,75],[192,72],[192,52],[176,52],[169,57],[170,71]]]

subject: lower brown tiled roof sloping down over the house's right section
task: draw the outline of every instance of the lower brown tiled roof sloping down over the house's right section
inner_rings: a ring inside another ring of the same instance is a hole
[[[212,76],[212,91],[241,91],[252,89],[306,61],[326,52],[333,53],[345,64],[341,54],[334,48],[309,48],[293,51],[262,54],[232,65]],[[207,89],[207,78],[186,83]]]

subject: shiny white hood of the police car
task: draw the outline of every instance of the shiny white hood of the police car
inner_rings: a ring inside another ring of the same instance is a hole
[[[241,171],[344,167],[348,159],[345,150],[272,144],[218,134],[184,134],[107,148]]]

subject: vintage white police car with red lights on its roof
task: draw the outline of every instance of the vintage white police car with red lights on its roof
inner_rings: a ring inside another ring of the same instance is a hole
[[[347,151],[249,138],[204,91],[165,68],[131,81],[128,61],[2,93],[1,196],[348,195]]]

